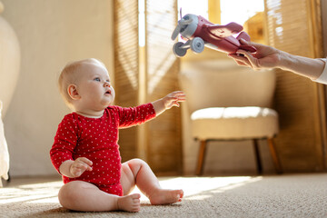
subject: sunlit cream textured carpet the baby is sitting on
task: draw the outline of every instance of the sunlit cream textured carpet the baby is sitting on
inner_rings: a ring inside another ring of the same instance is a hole
[[[78,213],[58,203],[61,181],[13,179],[0,189],[0,217],[327,217],[327,173],[169,177],[160,183],[183,188],[183,202],[153,206],[143,196],[139,213]]]

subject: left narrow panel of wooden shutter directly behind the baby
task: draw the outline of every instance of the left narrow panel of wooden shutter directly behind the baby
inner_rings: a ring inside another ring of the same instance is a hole
[[[114,0],[114,90],[115,104],[138,104],[139,88],[138,3]],[[122,161],[136,156],[137,129],[120,130]]]

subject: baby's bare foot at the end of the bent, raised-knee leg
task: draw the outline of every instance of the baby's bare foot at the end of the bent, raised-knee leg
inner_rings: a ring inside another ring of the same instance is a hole
[[[182,202],[183,190],[159,189],[149,197],[151,204]]]

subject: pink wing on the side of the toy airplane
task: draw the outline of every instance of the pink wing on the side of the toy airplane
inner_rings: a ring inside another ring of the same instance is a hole
[[[230,35],[238,34],[243,30],[243,26],[234,22],[228,25],[208,25],[209,32],[218,37],[228,37]]]

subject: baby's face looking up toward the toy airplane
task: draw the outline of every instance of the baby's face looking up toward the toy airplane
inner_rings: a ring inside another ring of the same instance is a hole
[[[101,111],[114,102],[114,88],[108,71],[98,62],[82,63],[76,85],[80,111]]]

